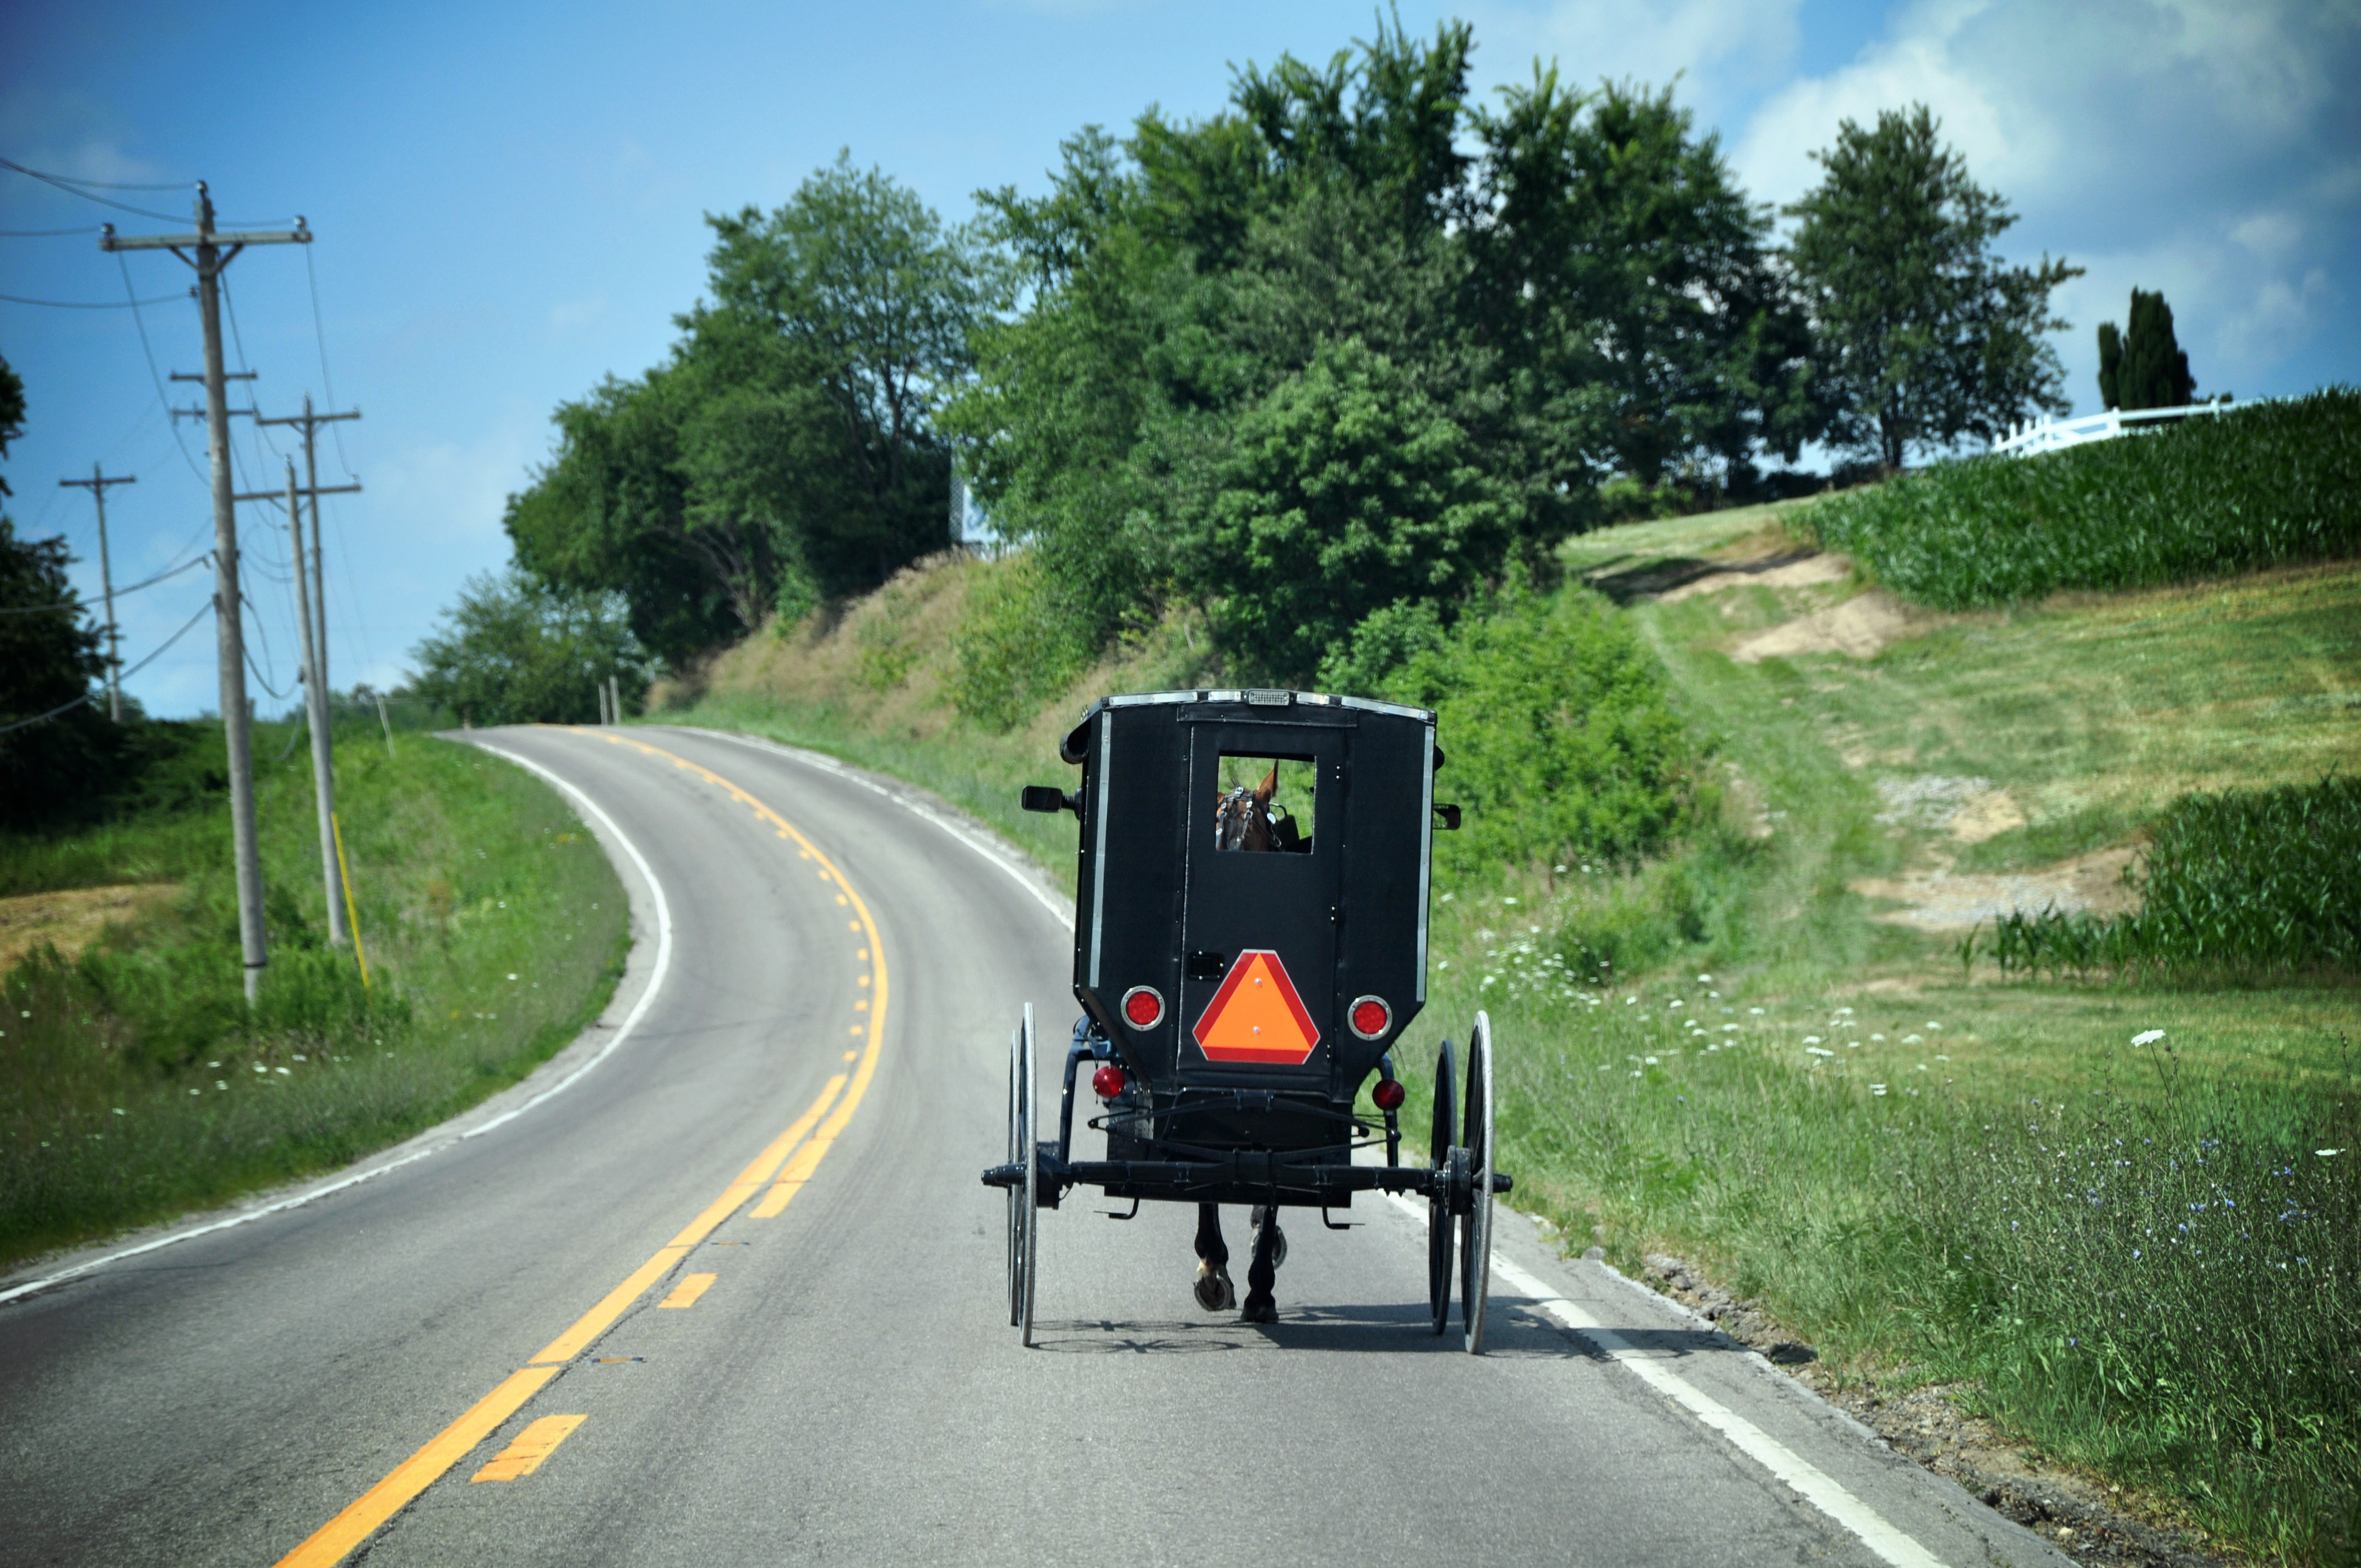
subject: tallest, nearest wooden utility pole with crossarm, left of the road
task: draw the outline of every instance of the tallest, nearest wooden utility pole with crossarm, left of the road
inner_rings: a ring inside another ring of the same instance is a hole
[[[222,730],[229,739],[229,824],[238,864],[238,947],[246,956],[246,1006],[262,999],[269,937],[262,930],[262,852],[255,843],[255,732],[246,706],[246,621],[238,597],[238,510],[229,486],[229,375],[222,368],[222,269],[246,246],[309,246],[302,217],[295,229],[222,234],[212,227],[212,194],[196,187],[196,234],[118,236],[99,229],[99,250],[170,250],[196,269],[196,305],[205,328],[205,456],[212,465],[212,626],[222,661]],[[191,255],[194,253],[194,255]]]

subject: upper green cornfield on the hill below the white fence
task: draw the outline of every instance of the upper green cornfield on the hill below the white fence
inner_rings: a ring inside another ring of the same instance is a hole
[[[1832,496],[1794,527],[1936,609],[2347,557],[2361,550],[2361,392],[1941,463]]]

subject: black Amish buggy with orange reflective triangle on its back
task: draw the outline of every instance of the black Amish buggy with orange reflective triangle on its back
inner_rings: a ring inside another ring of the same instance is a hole
[[[1332,1219],[1355,1193],[1428,1204],[1428,1306],[1450,1322],[1452,1254],[1466,1348],[1483,1351],[1492,1195],[1492,1025],[1476,1013],[1464,1100],[1452,1041],[1435,1060],[1428,1164],[1400,1162],[1405,1098],[1393,1048],[1426,1006],[1426,904],[1435,827],[1435,716],[1313,692],[1143,692],[1084,711],[1058,746],[1081,789],[1025,789],[1025,810],[1081,822],[1074,1023],[1058,1136],[1034,1105],[1032,1006],[1011,1041],[1008,1320],[1032,1344],[1039,1211],[1077,1185],[1114,1200],[1197,1204],[1197,1301],[1237,1296],[1221,1204],[1247,1204],[1254,1261],[1244,1318],[1275,1322],[1284,1209]],[[1074,1150],[1074,1079],[1091,1091],[1105,1159]],[[1358,1110],[1369,1077],[1379,1126]],[[1362,1155],[1355,1159],[1355,1155]]]

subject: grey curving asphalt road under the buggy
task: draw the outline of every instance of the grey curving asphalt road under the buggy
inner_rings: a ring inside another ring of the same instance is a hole
[[[977,1171],[1025,1001],[1055,1093],[1055,897],[758,741],[475,739],[595,803],[614,1008],[368,1181],[0,1304],[0,1563],[2064,1561],[1509,1214],[1471,1358],[1393,1204],[1291,1223],[1247,1327],[1190,1211],[1077,1195],[1020,1348]]]

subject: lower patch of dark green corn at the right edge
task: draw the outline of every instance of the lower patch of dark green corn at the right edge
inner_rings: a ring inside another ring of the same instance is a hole
[[[2149,841],[2134,914],[2009,914],[2002,973],[2361,973],[2361,779],[2182,796]],[[1974,963],[1974,937],[1964,947]]]

